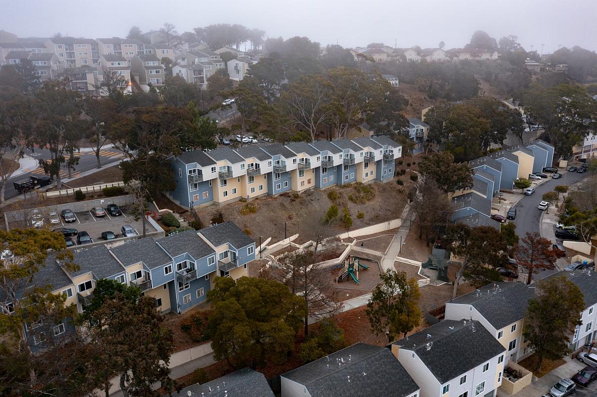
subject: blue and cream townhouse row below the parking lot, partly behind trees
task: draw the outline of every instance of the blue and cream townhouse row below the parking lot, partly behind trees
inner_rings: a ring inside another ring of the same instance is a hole
[[[145,237],[116,246],[78,249],[73,251],[76,271],[49,255],[20,294],[49,285],[53,293],[66,297],[66,305],[75,305],[82,313],[97,281],[108,279],[139,287],[141,294],[155,299],[160,312],[181,313],[207,299],[216,276],[235,280],[247,276],[255,250],[255,242],[232,222],[159,240]],[[31,329],[27,326],[26,332]],[[65,319],[54,327],[54,336],[74,331],[72,321]],[[41,347],[42,335],[33,334],[31,342],[33,348]]]

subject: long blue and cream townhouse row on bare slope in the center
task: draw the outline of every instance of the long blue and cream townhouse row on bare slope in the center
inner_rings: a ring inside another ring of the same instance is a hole
[[[189,208],[352,182],[385,182],[392,179],[394,160],[401,156],[402,146],[386,136],[187,151],[171,157],[176,189],[167,194]]]

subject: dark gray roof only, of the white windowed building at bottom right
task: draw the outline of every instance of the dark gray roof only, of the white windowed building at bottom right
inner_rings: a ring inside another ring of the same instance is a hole
[[[415,352],[443,384],[506,351],[479,321],[464,322],[440,321],[392,345]]]

